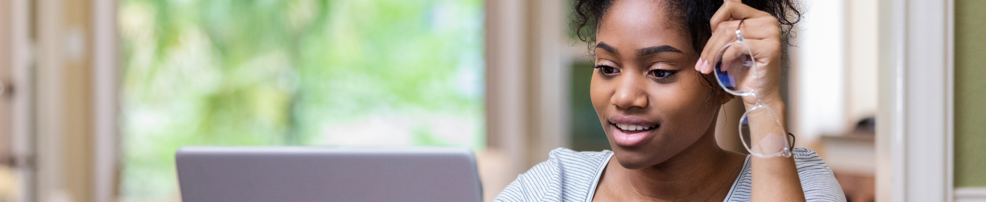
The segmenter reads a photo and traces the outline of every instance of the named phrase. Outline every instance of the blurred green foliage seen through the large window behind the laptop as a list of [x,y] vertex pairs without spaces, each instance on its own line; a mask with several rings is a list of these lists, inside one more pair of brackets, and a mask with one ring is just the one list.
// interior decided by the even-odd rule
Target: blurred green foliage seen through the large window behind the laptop
[[186,145],[482,148],[481,0],[121,0],[120,192]]

